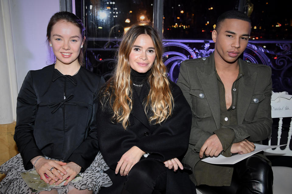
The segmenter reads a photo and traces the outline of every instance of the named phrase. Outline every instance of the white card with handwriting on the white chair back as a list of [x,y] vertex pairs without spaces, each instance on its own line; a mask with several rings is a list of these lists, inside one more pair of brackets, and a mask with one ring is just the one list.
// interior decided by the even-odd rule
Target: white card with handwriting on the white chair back
[[272,92],[272,118],[292,117],[292,95],[288,92]]

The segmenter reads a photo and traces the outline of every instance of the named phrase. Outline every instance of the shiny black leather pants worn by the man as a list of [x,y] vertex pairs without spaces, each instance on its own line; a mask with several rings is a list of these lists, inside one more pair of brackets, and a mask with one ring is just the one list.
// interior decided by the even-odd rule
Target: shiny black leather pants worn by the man
[[234,165],[231,186],[206,186],[218,194],[272,194],[273,171],[260,156],[252,155]]

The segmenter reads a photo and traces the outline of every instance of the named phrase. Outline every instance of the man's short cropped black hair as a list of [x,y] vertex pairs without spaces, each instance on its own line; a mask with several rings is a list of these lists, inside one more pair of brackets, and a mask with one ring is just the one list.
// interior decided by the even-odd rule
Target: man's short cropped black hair
[[247,16],[244,12],[240,12],[237,10],[230,10],[230,11],[224,12],[218,17],[217,23],[216,23],[217,31],[219,30],[220,25],[224,21],[224,19],[240,19],[240,20],[251,23],[249,16]]

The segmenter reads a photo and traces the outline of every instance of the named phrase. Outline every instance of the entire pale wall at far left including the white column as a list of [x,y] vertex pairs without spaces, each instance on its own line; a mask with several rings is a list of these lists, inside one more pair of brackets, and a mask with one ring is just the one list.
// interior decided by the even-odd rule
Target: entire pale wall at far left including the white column
[[59,0],[0,1],[0,124],[16,120],[16,98],[29,70],[49,59],[46,30]]

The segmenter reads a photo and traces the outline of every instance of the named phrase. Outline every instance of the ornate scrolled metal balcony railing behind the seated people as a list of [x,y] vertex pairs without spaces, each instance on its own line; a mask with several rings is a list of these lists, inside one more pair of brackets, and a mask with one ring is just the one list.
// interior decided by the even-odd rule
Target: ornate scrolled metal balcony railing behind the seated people
[[[88,68],[108,79],[115,66],[115,53],[120,39],[88,38]],[[243,59],[252,63],[269,65],[272,68],[274,92],[287,91],[292,94],[292,41],[249,41]],[[207,57],[214,51],[211,40],[163,41],[164,63],[169,69],[169,78],[176,82],[180,63],[186,59]],[[94,47],[94,48],[93,48]]]

